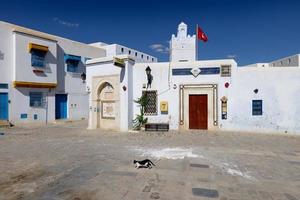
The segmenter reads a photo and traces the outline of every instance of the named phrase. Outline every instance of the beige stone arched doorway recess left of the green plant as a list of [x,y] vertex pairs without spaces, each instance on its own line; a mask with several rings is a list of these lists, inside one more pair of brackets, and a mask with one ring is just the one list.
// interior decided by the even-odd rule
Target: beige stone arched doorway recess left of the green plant
[[115,125],[115,89],[109,82],[102,83],[97,95],[97,128],[113,128]]

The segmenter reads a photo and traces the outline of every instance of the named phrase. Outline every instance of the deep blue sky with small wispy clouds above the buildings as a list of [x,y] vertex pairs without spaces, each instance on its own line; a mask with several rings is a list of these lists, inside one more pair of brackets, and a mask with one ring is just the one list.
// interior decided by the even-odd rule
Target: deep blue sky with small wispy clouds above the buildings
[[[208,36],[199,59],[234,58],[239,66],[300,53],[298,0],[9,0],[0,20],[93,43],[117,43],[168,61],[178,24]],[[2,38],[0,38],[2,39]]]

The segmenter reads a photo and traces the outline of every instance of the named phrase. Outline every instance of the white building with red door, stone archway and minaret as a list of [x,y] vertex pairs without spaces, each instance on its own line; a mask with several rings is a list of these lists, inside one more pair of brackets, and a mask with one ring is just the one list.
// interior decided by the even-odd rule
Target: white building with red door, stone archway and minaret
[[196,41],[185,28],[181,23],[177,37],[172,36],[171,62],[136,63],[130,55],[87,62],[90,129],[131,129],[140,113],[134,100],[146,93],[145,115],[152,126],[300,133],[300,66],[294,61],[299,55],[283,67],[195,60]]

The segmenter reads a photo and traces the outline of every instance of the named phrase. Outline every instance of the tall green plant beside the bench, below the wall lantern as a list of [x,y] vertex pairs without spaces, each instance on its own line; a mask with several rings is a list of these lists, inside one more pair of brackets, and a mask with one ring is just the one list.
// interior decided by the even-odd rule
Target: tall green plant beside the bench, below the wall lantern
[[147,106],[149,100],[146,93],[142,94],[140,98],[134,100],[135,103],[140,106],[140,114],[136,115],[136,118],[133,120],[133,128],[135,130],[140,130],[142,126],[144,126],[148,122],[148,118],[145,118],[145,106]]

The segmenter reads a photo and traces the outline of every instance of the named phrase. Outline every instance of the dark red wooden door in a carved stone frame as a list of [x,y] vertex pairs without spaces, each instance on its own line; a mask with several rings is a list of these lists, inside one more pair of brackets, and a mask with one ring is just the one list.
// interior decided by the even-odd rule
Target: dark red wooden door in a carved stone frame
[[189,129],[207,129],[207,95],[189,95]]

